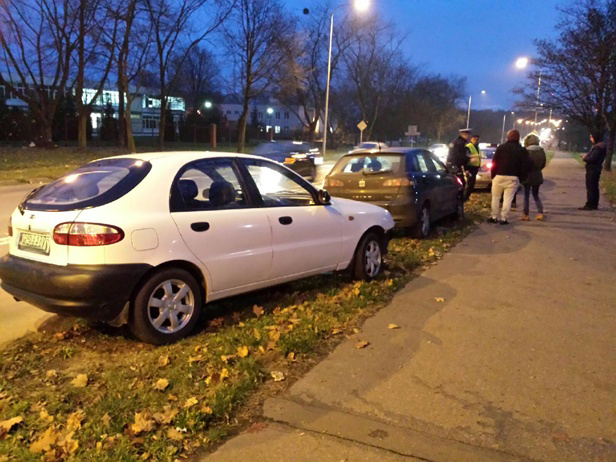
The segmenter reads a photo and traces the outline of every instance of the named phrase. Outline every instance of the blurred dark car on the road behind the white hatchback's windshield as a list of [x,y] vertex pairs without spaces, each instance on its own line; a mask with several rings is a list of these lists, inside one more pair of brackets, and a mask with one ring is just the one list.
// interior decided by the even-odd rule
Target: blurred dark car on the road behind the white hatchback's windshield
[[311,181],[317,177],[316,166],[323,163],[319,148],[305,141],[268,141],[259,144],[252,154],[284,164]]

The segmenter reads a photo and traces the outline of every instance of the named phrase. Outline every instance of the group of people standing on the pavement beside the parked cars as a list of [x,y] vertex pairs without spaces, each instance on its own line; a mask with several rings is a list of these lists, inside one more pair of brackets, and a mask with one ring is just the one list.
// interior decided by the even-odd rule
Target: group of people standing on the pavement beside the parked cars
[[[600,133],[590,135],[593,144],[588,154],[582,159],[586,163],[586,204],[579,210],[597,210],[599,206],[599,178],[607,151]],[[492,207],[489,223],[509,223],[512,203],[520,185],[524,187],[524,212],[522,221],[529,221],[530,196],[532,194],[537,207],[536,219],[543,221],[543,203],[539,196],[539,188],[543,184],[542,170],[547,158],[540,145],[540,139],[535,133],[530,133],[520,143],[520,132],[510,130],[507,141],[496,148],[492,158]],[[464,187],[464,199],[471,196],[477,173],[481,167],[481,151],[479,135],[465,128],[452,143],[447,163],[457,173]]]

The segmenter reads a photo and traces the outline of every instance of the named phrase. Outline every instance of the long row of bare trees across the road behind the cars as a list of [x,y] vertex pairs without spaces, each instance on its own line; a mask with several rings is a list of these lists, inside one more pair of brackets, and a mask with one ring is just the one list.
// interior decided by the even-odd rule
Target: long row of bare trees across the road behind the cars
[[418,124],[440,139],[462,119],[464,80],[412,66],[402,52],[405,37],[392,24],[376,15],[345,15],[345,6],[333,1],[311,3],[302,14],[281,0],[0,2],[0,85],[28,105],[39,146],[52,144],[55,114],[68,89],[79,146],[85,147],[90,114],[111,85],[120,98],[119,143],[130,151],[131,103],[144,88],[156,89],[161,100],[161,148],[169,138],[172,94],[183,95],[194,113],[206,96],[239,100],[238,151],[251,105],[265,96],[295,111],[312,137],[325,108],[329,19],[336,11],[335,134],[355,131],[364,120],[367,137],[397,139]]

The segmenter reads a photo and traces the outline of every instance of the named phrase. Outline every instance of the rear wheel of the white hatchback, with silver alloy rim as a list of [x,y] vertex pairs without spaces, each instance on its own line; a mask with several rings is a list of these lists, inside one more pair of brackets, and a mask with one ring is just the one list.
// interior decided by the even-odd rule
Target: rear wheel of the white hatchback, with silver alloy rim
[[[178,296],[182,292],[182,297]],[[180,268],[152,274],[139,288],[132,303],[130,330],[154,345],[186,337],[201,315],[201,289],[195,278]]]

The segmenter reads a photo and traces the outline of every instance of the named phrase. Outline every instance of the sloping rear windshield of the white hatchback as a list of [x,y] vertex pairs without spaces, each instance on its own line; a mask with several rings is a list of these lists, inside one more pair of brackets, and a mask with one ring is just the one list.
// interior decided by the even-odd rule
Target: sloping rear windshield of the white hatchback
[[127,158],[90,162],[35,190],[21,207],[67,211],[101,206],[132,190],[151,167],[149,162]]

